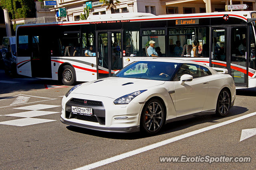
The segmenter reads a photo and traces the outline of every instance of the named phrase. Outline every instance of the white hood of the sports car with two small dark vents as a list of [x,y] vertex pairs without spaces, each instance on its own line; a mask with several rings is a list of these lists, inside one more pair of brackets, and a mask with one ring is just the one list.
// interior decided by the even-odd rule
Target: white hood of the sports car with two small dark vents
[[164,84],[164,81],[136,78],[108,77],[82,84],[73,91],[76,94],[104,96],[113,99],[138,90],[148,90],[152,86]]

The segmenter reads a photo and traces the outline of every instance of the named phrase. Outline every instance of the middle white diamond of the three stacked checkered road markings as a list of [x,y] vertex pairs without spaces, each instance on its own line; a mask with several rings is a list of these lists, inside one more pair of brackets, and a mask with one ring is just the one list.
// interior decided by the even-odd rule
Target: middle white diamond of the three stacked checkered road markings
[[32,111],[24,111],[20,113],[13,113],[5,116],[14,116],[14,117],[37,117],[43,115],[50,115],[54,113],[60,113],[57,111],[41,111],[41,110],[32,110]]

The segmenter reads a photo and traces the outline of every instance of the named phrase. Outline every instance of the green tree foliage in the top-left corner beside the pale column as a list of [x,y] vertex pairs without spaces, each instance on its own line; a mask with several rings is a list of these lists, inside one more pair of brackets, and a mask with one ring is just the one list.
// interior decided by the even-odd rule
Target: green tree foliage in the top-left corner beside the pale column
[[0,0],[2,9],[8,9],[11,20],[36,17],[34,0]]

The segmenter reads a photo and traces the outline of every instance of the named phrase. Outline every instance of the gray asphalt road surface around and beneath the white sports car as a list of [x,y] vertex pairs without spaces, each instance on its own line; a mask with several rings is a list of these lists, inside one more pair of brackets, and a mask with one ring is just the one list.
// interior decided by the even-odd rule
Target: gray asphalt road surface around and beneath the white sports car
[[[0,169],[79,168],[256,112],[256,89],[237,90],[238,96],[228,117],[204,115],[168,123],[155,136],[105,133],[60,122],[61,96],[72,86],[60,88],[63,85],[58,81],[13,78],[4,75],[2,70],[0,77],[8,81],[0,82]],[[242,129],[256,128],[255,121],[253,115],[96,169],[255,169],[256,136],[240,142]],[[182,155],[250,156],[252,161],[209,164],[160,162],[159,159]]]

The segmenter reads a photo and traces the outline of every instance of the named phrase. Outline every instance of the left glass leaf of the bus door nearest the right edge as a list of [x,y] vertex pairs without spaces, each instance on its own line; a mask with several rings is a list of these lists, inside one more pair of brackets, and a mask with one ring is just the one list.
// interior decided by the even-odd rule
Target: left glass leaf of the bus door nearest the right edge
[[212,60],[222,61],[213,63],[213,67],[226,68],[226,29],[218,28],[212,30]]

